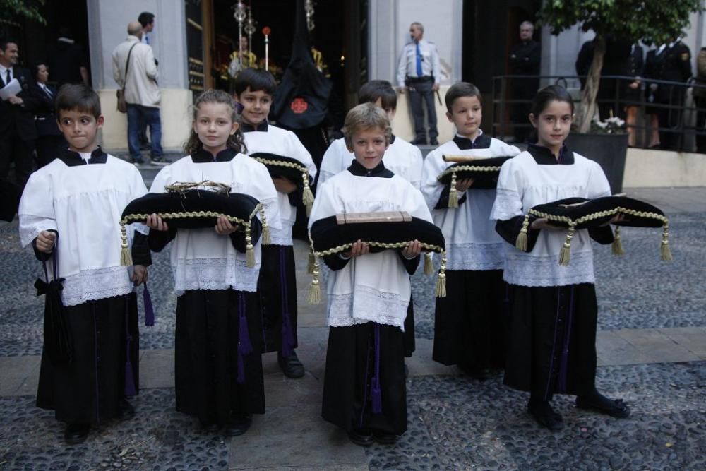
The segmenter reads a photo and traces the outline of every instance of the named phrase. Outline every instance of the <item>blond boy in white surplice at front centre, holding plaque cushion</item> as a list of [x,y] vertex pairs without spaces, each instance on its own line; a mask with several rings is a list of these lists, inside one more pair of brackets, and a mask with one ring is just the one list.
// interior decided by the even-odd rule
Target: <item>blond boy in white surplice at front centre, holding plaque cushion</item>
[[[339,213],[395,210],[431,222],[419,190],[383,165],[391,135],[383,109],[354,107],[344,133],[355,160],[321,186],[310,227]],[[375,254],[358,241],[348,253],[324,257],[333,271],[322,415],[361,446],[394,443],[407,430],[403,330],[420,252],[418,241]]]

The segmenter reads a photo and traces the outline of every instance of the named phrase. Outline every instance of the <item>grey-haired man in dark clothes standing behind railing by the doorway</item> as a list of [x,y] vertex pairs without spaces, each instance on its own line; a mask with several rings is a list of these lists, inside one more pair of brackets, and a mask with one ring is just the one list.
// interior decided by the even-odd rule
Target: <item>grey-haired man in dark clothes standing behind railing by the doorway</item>
[[[520,43],[510,49],[510,73],[514,76],[539,76],[539,62],[542,60],[542,48],[539,42],[532,40],[534,25],[530,21],[520,24]],[[525,142],[530,131],[531,100],[539,88],[539,78],[513,78],[510,90],[515,100],[530,100],[526,103],[515,103],[513,109],[513,124],[515,124],[515,140]],[[524,125],[524,126],[518,126]]]

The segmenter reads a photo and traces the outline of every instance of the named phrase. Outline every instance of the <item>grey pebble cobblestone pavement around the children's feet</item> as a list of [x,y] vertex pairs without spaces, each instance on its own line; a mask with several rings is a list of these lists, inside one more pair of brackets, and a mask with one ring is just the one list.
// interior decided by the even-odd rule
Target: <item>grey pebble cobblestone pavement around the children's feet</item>
[[[623,230],[623,258],[596,248],[600,329],[706,326],[706,213],[670,218],[672,263],[659,260],[658,229]],[[0,259],[0,357],[40,354],[43,299],[32,287],[40,266],[20,249],[16,222],[0,225]],[[433,338],[432,283],[433,277],[414,277],[418,338]],[[155,255],[150,292],[157,323],[141,333],[144,350],[174,345],[171,284],[167,254]],[[499,374],[484,383],[462,375],[410,378],[407,433],[395,446],[367,448],[364,461],[371,470],[706,469],[706,362],[602,366],[597,383],[625,399],[632,417],[578,410],[573,398],[560,396],[554,402],[566,427],[550,432],[534,424],[527,396],[503,387]],[[319,385],[306,404],[315,416]],[[34,400],[0,397],[0,471],[224,470],[237,467],[233,449],[244,443],[199,431],[174,411],[172,388],[141,390],[134,419],[102,424],[80,446],[65,446],[61,424]],[[268,415],[277,407],[268,406]]]

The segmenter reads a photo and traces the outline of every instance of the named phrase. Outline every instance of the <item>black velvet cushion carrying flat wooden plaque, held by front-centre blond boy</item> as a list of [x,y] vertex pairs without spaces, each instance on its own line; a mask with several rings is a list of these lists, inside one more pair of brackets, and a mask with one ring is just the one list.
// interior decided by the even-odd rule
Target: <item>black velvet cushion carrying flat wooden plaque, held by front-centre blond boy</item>
[[[385,249],[403,249],[409,242],[417,239],[423,251],[441,252],[445,244],[441,229],[417,217],[407,222],[357,222],[339,225],[336,217],[325,217],[311,226],[311,240],[317,254],[328,252],[335,254],[350,249],[349,244],[357,240],[371,245],[372,252]],[[394,245],[394,246],[382,246]],[[340,250],[333,250],[341,247]]]

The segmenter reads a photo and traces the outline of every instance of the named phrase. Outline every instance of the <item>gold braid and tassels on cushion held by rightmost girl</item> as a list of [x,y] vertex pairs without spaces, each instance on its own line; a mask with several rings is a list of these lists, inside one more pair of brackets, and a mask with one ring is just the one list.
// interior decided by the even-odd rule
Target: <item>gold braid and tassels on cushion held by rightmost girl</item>
[[[626,215],[637,216],[637,217],[645,217],[647,219],[655,219],[655,220],[662,222],[662,245],[660,246],[661,258],[664,261],[670,261],[672,259],[671,250],[669,249],[669,219],[664,215],[661,215],[658,213],[652,213],[651,211],[638,211],[638,210],[622,208],[621,206],[618,206],[618,208],[613,208],[613,209],[604,210],[604,211],[598,211],[597,213],[587,214],[585,216],[578,217],[577,219],[573,220],[567,216],[557,216],[557,215],[552,215],[552,214],[548,214],[548,213],[543,213],[542,211],[530,209],[530,211],[525,216],[525,225],[523,226],[523,229],[526,229],[527,221],[528,221],[530,215],[536,216],[536,217],[544,217],[544,218],[546,218],[546,220],[549,220],[549,221],[566,222],[569,225],[569,227],[568,227],[568,232],[566,234],[566,241],[564,241],[564,244],[561,247],[561,251],[559,252],[559,265],[568,266],[569,261],[570,261],[571,239],[573,239],[573,234],[576,230],[576,226],[578,226],[584,222],[588,222],[588,221],[592,221],[592,220],[596,220],[596,219],[601,219],[602,217],[606,217],[606,216],[614,216],[614,215],[618,215],[618,214],[626,214]],[[620,237],[620,232],[618,232],[617,230],[616,230],[615,237],[618,237],[618,238]],[[519,237],[518,237],[518,239],[519,239]],[[518,245],[518,248],[520,248],[519,245]],[[618,242],[618,244],[614,245],[613,254],[614,255],[622,255],[623,254],[622,244],[620,244]]]

